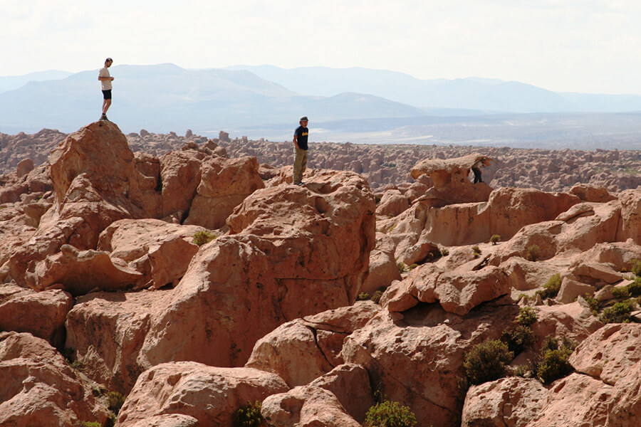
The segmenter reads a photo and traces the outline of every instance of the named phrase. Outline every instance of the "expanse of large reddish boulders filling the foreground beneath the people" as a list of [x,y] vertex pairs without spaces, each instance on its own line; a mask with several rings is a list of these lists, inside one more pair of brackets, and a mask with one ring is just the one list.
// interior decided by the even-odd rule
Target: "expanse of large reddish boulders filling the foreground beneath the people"
[[92,123],[0,188],[0,425],[637,425],[641,189],[493,189],[474,153],[295,186],[150,135]]

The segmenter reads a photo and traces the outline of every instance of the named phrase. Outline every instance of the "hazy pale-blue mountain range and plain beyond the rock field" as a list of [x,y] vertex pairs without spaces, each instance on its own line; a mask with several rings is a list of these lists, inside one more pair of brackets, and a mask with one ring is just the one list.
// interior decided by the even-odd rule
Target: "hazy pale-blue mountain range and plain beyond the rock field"
[[[494,126],[500,117],[501,126],[508,126],[512,115],[641,112],[639,95],[554,93],[483,78],[420,80],[365,68],[237,65],[189,70],[172,64],[115,65],[111,74],[115,80],[108,116],[124,132],[191,129],[216,135],[227,130],[288,137],[298,117],[308,115],[318,137],[325,132],[330,138],[339,129],[408,128],[408,135],[420,137],[431,125],[449,129],[469,120],[479,127]],[[0,77],[0,132],[37,132],[43,127],[71,132],[97,120],[101,103],[98,70]],[[522,117],[512,122],[519,120]]]

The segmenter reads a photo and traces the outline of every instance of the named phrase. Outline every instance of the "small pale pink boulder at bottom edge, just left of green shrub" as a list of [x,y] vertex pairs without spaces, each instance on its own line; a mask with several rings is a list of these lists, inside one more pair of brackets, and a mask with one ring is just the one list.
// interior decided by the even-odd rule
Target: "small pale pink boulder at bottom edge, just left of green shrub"
[[336,396],[320,386],[300,386],[263,401],[261,415],[278,427],[360,427]]

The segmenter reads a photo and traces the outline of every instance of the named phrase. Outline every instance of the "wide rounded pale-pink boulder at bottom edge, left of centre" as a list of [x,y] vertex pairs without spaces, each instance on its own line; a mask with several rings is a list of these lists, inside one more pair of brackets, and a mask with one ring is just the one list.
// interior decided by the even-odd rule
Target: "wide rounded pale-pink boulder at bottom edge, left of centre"
[[248,402],[286,390],[278,376],[257,369],[160,364],[140,374],[120,408],[116,426],[140,425],[147,418],[167,414],[196,418],[199,426],[231,426],[234,413]]

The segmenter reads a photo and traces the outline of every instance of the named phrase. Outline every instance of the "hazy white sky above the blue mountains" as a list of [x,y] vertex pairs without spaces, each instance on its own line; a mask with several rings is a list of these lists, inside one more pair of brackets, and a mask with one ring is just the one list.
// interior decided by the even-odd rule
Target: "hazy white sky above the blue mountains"
[[0,0],[0,75],[359,66],[641,94],[638,0]]

